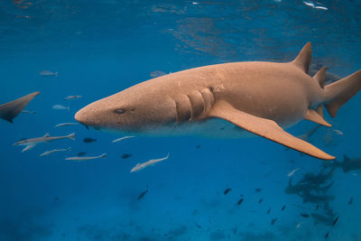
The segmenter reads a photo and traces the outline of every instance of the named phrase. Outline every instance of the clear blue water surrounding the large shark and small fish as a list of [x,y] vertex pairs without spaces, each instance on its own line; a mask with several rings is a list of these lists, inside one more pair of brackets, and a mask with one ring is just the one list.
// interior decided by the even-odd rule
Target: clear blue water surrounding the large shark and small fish
[[[315,224],[300,213],[323,210],[284,189],[290,171],[301,168],[292,177],[296,183],[307,172],[319,173],[323,161],[263,138],[136,137],[113,144],[121,136],[82,125],[54,128],[75,122],[79,108],[150,79],[154,70],[292,60],[306,42],[312,42],[312,60],[329,72],[345,77],[361,69],[359,1],[322,2],[328,10],[301,0],[197,3],[0,2],[0,103],[41,91],[25,107],[36,114],[0,123],[0,240],[324,240],[328,232],[329,240],[361,240],[357,171],[337,169],[331,177],[327,194],[335,196],[329,206],[338,223]],[[59,76],[41,76],[42,70]],[[64,101],[70,95],[83,97]],[[57,104],[70,110],[53,109]],[[359,94],[336,118],[326,116],[343,135],[321,127],[312,144],[339,161],[343,154],[360,157],[360,104]],[[303,134],[313,126],[302,121],[290,132]],[[25,153],[13,145],[73,132],[75,141],[38,144]],[[97,141],[84,143],[86,137]],[[72,151],[39,157],[67,147]],[[64,160],[79,152],[107,155]],[[122,159],[125,153],[132,156]],[[136,163],[167,153],[169,160],[130,173]],[[347,204],[351,197],[353,204]]]

